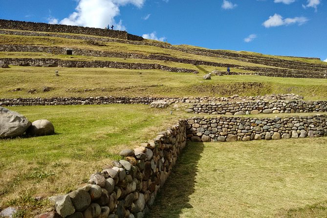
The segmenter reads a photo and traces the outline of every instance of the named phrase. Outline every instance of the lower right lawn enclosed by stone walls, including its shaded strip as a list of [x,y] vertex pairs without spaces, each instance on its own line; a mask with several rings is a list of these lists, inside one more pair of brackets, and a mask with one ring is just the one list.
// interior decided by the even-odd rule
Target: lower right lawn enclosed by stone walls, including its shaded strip
[[192,143],[152,218],[327,217],[326,164],[327,138]]

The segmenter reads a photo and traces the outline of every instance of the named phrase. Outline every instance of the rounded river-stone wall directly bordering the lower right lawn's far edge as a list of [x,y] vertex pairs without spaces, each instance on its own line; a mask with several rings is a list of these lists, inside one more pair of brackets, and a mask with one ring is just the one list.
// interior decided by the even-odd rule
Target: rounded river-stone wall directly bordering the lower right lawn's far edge
[[327,115],[288,118],[193,117],[187,138],[194,142],[232,142],[327,136]]

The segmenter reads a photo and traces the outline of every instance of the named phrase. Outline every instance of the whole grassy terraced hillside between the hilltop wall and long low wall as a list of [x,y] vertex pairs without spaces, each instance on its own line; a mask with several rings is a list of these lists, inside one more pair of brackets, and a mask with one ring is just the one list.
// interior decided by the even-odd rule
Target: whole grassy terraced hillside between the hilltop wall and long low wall
[[[0,29],[0,36],[0,60],[12,65],[0,69],[5,72],[0,79],[1,84],[5,84],[0,87],[2,98],[218,97],[291,92],[307,99],[327,98],[326,80],[321,80],[326,78],[327,64],[316,58],[71,33]],[[72,55],[66,55],[67,50],[71,50]],[[203,81],[202,76],[212,70],[226,74],[228,66],[231,75]],[[78,71],[74,67],[78,67]],[[55,70],[59,70],[60,77],[53,77]],[[13,77],[21,82],[12,80]],[[300,78],[316,79],[309,82]],[[121,80],[125,82],[120,83]],[[44,87],[50,90],[44,92]]]

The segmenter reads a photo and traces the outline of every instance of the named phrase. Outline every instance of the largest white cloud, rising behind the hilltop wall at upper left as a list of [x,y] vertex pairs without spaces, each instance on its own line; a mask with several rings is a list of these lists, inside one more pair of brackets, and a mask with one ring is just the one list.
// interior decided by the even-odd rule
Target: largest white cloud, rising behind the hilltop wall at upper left
[[[114,25],[115,29],[125,30],[122,21],[115,22],[114,18],[119,15],[119,7],[127,4],[133,4],[136,7],[142,7],[145,0],[77,0],[78,5],[75,12],[69,17],[61,20],[60,24],[78,25],[88,27],[104,28]],[[58,21],[55,18],[49,19],[49,22]]]

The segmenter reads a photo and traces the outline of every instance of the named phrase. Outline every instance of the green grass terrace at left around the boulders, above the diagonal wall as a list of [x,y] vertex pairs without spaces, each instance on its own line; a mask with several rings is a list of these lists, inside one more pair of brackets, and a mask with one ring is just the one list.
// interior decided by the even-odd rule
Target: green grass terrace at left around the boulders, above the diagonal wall
[[[0,208],[42,204],[32,195],[66,193],[102,170],[119,152],[174,124],[168,110],[146,105],[10,108],[30,121],[48,119],[55,135],[0,140]],[[51,194],[50,194],[51,195]],[[43,202],[44,203],[44,202]]]

